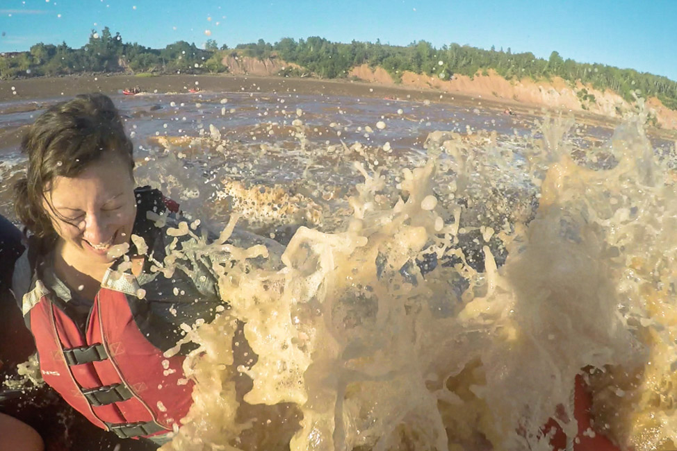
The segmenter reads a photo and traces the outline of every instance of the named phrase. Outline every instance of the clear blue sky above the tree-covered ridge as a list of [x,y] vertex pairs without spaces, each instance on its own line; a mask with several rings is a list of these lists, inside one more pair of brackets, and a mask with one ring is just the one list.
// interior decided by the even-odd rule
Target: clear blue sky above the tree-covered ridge
[[124,42],[152,47],[318,35],[494,45],[544,58],[557,50],[563,58],[677,80],[677,0],[0,0],[0,51],[41,41],[80,47],[103,26],[120,31]]

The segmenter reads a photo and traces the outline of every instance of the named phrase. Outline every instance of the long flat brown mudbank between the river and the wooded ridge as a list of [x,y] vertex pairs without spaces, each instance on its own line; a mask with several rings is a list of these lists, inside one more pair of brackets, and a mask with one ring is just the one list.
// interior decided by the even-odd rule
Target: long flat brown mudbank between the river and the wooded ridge
[[[318,78],[284,78],[279,76],[251,75],[158,75],[137,77],[122,74],[95,74],[63,77],[35,77],[12,80],[0,84],[0,113],[26,111],[23,106],[11,105],[17,101],[35,101],[35,109],[42,108],[60,99],[70,99],[83,92],[101,92],[108,95],[120,95],[125,88],[138,86],[144,92],[165,94],[178,92],[188,94],[188,89],[199,83],[203,92],[272,92],[277,94],[334,95],[352,97],[387,98],[393,101],[430,101],[464,106],[482,106],[492,110],[510,109],[516,114],[542,117],[544,112],[573,114],[582,124],[614,128],[621,121],[614,117],[592,112],[563,110],[546,105],[523,103],[508,99],[491,99],[477,94],[464,92],[446,92],[434,88],[421,88],[406,85],[383,85],[366,81]],[[13,91],[12,88],[15,88]],[[16,94],[13,94],[16,92]],[[195,94],[193,94],[195,95]],[[661,128],[647,128],[651,135],[667,139],[677,139],[677,131]],[[3,138],[12,138],[4,133]]]

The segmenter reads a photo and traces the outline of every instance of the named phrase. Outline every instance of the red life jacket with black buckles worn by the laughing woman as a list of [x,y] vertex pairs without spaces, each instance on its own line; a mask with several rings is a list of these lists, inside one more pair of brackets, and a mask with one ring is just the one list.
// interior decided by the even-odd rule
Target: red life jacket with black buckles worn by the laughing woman
[[143,336],[125,293],[99,290],[84,336],[42,282],[28,296],[44,381],[92,423],[124,438],[151,436],[188,414],[193,382],[183,379],[184,357],[163,357]]

